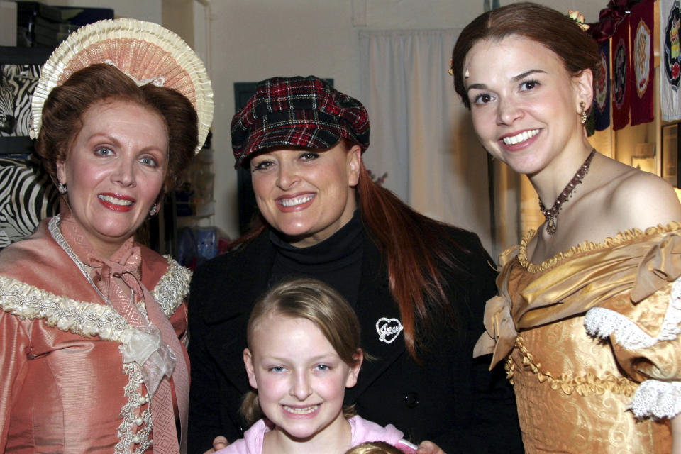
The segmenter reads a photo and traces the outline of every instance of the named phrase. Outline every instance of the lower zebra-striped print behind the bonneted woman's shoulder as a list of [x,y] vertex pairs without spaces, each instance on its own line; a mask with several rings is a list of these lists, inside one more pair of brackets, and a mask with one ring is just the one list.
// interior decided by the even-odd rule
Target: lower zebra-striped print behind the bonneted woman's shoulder
[[31,235],[59,211],[59,192],[33,158],[0,157],[0,248]]

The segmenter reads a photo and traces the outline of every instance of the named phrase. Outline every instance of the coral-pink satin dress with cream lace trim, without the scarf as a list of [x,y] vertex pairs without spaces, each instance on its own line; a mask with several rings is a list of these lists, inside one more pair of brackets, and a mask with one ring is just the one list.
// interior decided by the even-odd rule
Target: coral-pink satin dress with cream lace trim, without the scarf
[[[63,226],[70,214],[62,216]],[[82,250],[74,244],[78,238],[62,231],[74,250]],[[138,246],[131,239],[125,247]],[[130,304],[134,299],[142,314],[157,304],[176,340],[183,338],[189,271],[148,248],[135,251],[148,294],[143,299],[129,292]],[[87,271],[94,279],[111,279]],[[121,354],[135,326],[102,300],[57,244],[47,220],[0,253],[0,308],[0,452],[177,452],[177,436],[175,446],[154,443],[153,421],[165,417],[172,432],[183,411],[179,419],[186,421],[188,377],[180,379],[180,390],[175,374],[180,362],[188,373],[184,345],[172,377],[163,378],[170,383],[164,397],[170,414],[154,415],[161,407],[152,408],[142,368],[124,363]]]

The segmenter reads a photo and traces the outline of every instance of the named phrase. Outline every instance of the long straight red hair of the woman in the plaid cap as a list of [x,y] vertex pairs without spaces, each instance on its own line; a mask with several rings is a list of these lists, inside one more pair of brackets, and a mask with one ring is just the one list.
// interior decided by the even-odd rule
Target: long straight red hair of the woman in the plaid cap
[[[451,240],[450,226],[419,214],[373,182],[363,162],[357,192],[362,223],[387,265],[390,293],[402,316],[406,349],[418,360],[418,351],[427,350],[427,345],[417,331],[432,332],[443,322],[445,326],[455,326],[458,320],[455,305],[445,292],[450,283],[444,282],[441,270],[463,274],[450,256],[453,248],[463,248]],[[230,249],[253,240],[265,225],[258,214],[248,233],[234,241]]]

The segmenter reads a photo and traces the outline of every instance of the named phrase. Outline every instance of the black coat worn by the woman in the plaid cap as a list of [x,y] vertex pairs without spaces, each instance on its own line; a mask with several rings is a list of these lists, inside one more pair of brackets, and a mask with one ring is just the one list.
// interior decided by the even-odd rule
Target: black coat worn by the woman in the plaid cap
[[[448,454],[521,453],[515,402],[504,371],[488,372],[487,356],[472,359],[472,346],[484,329],[485,301],[495,293],[496,272],[475,234],[454,228],[451,234],[470,250],[452,252],[470,279],[459,282],[456,277],[447,289],[463,328],[457,334],[443,329],[433,336],[436,341],[419,357],[422,365],[406,352],[404,333],[391,343],[379,340],[377,321],[400,316],[380,252],[365,235],[356,310],[362,348],[376,359],[362,364],[357,385],[346,389],[345,403],[354,403],[365,419],[392,423],[406,438],[434,441]],[[274,258],[275,248],[265,232],[194,272],[189,297],[189,453],[203,453],[218,435],[230,441],[241,438],[247,428],[238,413],[250,389],[243,365],[246,323],[255,300],[267,290]]]

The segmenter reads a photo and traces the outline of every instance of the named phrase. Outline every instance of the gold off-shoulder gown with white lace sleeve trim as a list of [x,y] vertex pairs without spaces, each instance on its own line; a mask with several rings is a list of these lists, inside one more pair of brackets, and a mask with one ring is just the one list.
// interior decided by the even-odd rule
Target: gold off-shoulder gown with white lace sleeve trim
[[668,416],[681,411],[681,223],[540,265],[526,258],[534,234],[502,254],[476,346],[506,358],[526,452],[670,453]]

